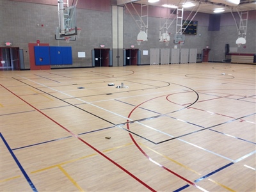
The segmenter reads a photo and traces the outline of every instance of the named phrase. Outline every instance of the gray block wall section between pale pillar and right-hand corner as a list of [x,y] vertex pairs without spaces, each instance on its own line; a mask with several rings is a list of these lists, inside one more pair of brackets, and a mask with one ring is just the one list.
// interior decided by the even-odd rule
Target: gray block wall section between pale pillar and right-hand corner
[[[150,63],[150,49],[173,49],[175,45],[182,49],[197,49],[198,53],[202,52],[206,46],[211,47],[211,31],[208,31],[208,26],[198,26],[197,35],[186,35],[185,42],[182,46],[174,44],[174,35],[176,33],[176,20],[172,23],[168,29],[170,33],[170,43],[166,46],[163,42],[159,42],[159,18],[148,17],[148,41],[141,42],[141,45],[137,45],[136,39],[140,32],[140,28],[136,25],[131,15],[126,14],[124,17],[124,47],[129,48],[131,44],[135,45],[134,48],[148,51],[148,56],[141,55],[141,65],[147,65]],[[172,22],[172,20],[170,20]],[[200,23],[200,22],[199,22]],[[199,35],[201,34],[201,36]],[[170,54],[171,55],[171,54]],[[159,58],[160,63],[161,58]]]

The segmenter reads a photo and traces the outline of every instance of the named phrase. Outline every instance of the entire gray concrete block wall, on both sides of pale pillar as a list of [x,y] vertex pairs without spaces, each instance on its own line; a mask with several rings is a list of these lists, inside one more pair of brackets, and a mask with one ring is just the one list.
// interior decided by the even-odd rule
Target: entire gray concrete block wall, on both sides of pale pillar
[[[77,8],[77,26],[82,31],[80,38],[76,41],[70,41],[69,44],[54,38],[55,28],[58,26],[57,6],[4,1],[4,3],[1,3],[0,10],[0,44],[4,46],[4,42],[12,42],[13,47],[23,49],[26,69],[29,69],[28,43],[36,43],[36,40],[40,40],[41,43],[49,43],[52,46],[71,46],[74,64],[65,67],[92,67],[93,48],[104,44],[106,48],[112,49],[111,7],[109,7],[109,12]],[[182,48],[196,48],[197,52],[201,53],[202,49],[209,46],[211,48],[209,60],[222,61],[225,44],[230,44],[230,47],[236,46],[235,42],[238,38],[236,24],[221,26],[220,31],[208,31],[205,18],[205,14],[198,13],[196,15],[194,20],[198,20],[198,34],[186,35]],[[168,29],[168,32],[171,33],[171,42],[166,46],[159,42],[159,18],[148,17],[148,42],[142,42],[139,46],[136,38],[140,28],[138,28],[130,14],[124,13],[124,49],[135,45],[134,48],[141,50],[141,64],[149,64],[150,49],[172,49],[174,45],[177,45],[172,42],[175,28],[175,22],[173,22]],[[239,47],[239,52],[256,52],[255,29],[256,19],[248,20],[246,48]],[[199,36],[199,33],[201,36]],[[148,56],[142,55],[143,50],[148,51]],[[78,58],[77,52],[80,51],[86,52],[86,58]]]

